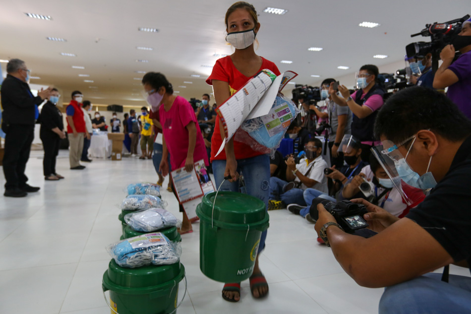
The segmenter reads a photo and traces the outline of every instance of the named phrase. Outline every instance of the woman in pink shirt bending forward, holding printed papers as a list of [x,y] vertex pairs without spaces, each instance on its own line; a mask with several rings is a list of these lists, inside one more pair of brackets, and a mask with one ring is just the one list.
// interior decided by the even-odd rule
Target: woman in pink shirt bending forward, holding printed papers
[[[169,153],[172,169],[175,170],[184,167],[187,172],[193,171],[194,163],[201,159],[209,166],[203,135],[191,105],[183,97],[174,95],[172,84],[162,73],[146,73],[142,84],[152,110],[159,111],[164,135],[164,149],[159,167],[162,176],[165,177],[169,173]],[[176,193],[175,187],[173,190]],[[178,232],[193,232],[191,222],[181,204],[180,212],[183,213],[183,224]]]

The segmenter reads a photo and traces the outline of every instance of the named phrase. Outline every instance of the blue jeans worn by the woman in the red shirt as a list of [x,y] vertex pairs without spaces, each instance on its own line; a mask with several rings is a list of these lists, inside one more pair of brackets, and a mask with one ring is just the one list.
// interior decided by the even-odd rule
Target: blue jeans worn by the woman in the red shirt
[[[213,173],[216,188],[219,188],[224,180],[224,172],[226,171],[226,160],[213,161]],[[268,207],[268,180],[270,179],[270,157],[268,155],[260,155],[247,159],[237,160],[237,172],[243,174],[245,187],[249,195],[261,199]],[[225,181],[221,186],[221,191],[239,191],[238,182]],[[258,252],[265,249],[265,239],[267,238],[267,230],[262,232]]]

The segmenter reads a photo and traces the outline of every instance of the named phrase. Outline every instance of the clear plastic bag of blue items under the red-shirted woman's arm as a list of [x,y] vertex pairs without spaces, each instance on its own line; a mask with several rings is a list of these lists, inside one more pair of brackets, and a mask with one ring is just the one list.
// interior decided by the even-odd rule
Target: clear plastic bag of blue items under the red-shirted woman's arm
[[235,140],[250,145],[256,151],[274,154],[299,112],[290,99],[278,94],[270,113],[244,121],[235,133]]

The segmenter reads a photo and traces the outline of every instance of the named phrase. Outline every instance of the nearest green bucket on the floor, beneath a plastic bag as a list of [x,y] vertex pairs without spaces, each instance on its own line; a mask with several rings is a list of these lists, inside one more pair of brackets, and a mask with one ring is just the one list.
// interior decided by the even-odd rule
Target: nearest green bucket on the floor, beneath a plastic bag
[[178,284],[184,276],[179,262],[130,269],[112,259],[103,274],[103,293],[110,290],[112,314],[176,313]]

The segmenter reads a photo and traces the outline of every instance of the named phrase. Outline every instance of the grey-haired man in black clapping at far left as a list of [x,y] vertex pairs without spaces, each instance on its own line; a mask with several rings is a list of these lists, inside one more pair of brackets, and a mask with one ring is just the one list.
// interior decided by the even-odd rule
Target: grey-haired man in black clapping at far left
[[1,85],[2,125],[5,135],[3,174],[5,196],[24,197],[27,192],[36,192],[26,182],[24,174],[34,139],[34,124],[39,117],[38,105],[51,95],[51,88],[38,91],[34,97],[29,89],[29,73],[24,61],[11,59],[6,65],[5,80]]

